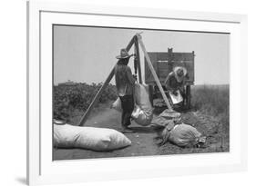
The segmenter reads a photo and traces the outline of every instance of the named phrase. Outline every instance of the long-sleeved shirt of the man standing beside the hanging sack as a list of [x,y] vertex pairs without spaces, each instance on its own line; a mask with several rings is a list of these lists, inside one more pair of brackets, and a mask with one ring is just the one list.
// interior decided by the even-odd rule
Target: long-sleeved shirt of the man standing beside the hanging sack
[[119,96],[133,94],[135,79],[128,65],[117,64],[115,67],[115,78]]

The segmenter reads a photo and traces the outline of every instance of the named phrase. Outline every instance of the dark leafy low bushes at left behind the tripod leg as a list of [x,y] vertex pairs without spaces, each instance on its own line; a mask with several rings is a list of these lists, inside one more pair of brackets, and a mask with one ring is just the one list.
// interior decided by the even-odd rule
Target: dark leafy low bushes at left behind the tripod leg
[[[76,111],[85,112],[101,86],[102,83],[73,83],[72,85],[62,83],[55,85],[53,87],[54,118],[68,121]],[[116,86],[108,84],[98,103],[108,103],[115,99],[117,99]]]

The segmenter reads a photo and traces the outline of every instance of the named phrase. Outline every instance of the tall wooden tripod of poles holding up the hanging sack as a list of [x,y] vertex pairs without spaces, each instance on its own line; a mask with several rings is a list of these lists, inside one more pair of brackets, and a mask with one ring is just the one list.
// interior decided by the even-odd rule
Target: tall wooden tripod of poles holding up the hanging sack
[[[135,53],[136,53],[136,58],[137,58],[136,59],[137,64],[135,66],[136,66],[136,68],[138,68],[138,82],[142,83],[141,66],[140,66],[140,58],[139,58],[139,48],[138,48],[138,44],[139,44],[141,46],[141,49],[142,49],[146,59],[147,59],[149,69],[150,69],[151,73],[153,74],[154,79],[155,79],[157,85],[159,86],[159,91],[162,94],[163,99],[164,99],[165,103],[167,104],[169,110],[172,110],[172,108],[171,108],[171,106],[169,104],[169,100],[168,100],[166,94],[164,93],[164,90],[162,88],[161,83],[159,82],[159,77],[158,77],[157,73],[155,72],[155,69],[154,69],[154,67],[153,67],[153,65],[152,65],[152,63],[150,61],[150,58],[148,56],[147,50],[145,48],[145,45],[142,42],[142,38],[141,38],[140,34],[136,34],[136,35],[134,35],[132,37],[132,39],[130,40],[130,42],[128,43],[128,45],[126,47],[127,51],[130,50],[130,48],[132,47],[133,44],[135,46]],[[136,71],[137,71],[137,69],[136,69]],[[103,85],[100,87],[100,89],[97,92],[96,96],[94,97],[92,103],[90,103],[89,107],[87,108],[86,113],[84,113],[84,115],[82,116],[82,118],[81,118],[81,120],[79,121],[79,124],[78,124],[79,126],[82,126],[82,125],[85,124],[85,122],[87,122],[87,118],[88,118],[89,113],[92,111],[92,109],[94,108],[95,104],[98,102],[98,99],[99,99],[100,95],[102,94],[104,89],[107,87],[107,85],[111,81],[111,79],[113,78],[114,73],[115,73],[115,66],[112,68],[111,72],[108,74],[108,78],[103,83]]]

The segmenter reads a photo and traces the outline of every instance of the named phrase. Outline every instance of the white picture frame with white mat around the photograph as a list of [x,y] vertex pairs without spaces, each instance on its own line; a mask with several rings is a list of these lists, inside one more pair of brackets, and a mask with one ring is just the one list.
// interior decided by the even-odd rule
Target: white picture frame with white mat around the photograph
[[[148,20],[148,23],[145,20]],[[51,86],[48,82],[52,78],[52,75],[48,75],[52,73],[51,47],[48,48],[52,36],[50,28],[52,24],[83,24],[85,21],[97,25],[118,24],[130,25],[130,27],[136,27],[144,22],[146,27],[158,24],[162,28],[176,26],[175,28],[179,30],[229,32],[231,35],[230,152],[51,161],[52,146],[47,146],[51,142],[52,125],[47,122],[47,118],[51,118],[51,115],[44,113],[49,109],[47,103],[52,102],[51,88],[48,88]],[[27,183],[29,185],[245,171],[247,169],[247,99],[244,97],[247,97],[246,15],[37,1],[27,3]],[[131,166],[132,164],[138,166]],[[67,173],[70,172],[68,170],[72,170],[72,173]]]

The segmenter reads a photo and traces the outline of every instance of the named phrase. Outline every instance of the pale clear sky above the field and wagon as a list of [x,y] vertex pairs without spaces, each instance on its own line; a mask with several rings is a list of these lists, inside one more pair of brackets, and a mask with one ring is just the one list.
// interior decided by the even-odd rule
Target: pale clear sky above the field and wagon
[[[148,52],[195,52],[195,84],[230,83],[230,35],[87,26],[54,26],[54,84],[105,82],[121,48],[143,32]],[[130,54],[134,51],[130,50]],[[140,51],[144,79],[144,54]],[[133,71],[133,60],[129,66]],[[114,78],[111,83],[114,83]]]

